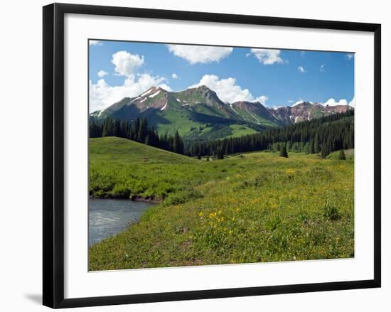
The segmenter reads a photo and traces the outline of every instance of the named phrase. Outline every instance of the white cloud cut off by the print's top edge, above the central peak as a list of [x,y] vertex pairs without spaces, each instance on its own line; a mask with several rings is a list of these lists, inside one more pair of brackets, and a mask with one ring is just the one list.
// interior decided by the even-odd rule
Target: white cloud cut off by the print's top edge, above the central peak
[[168,50],[188,63],[219,62],[232,53],[233,48],[212,47],[207,45],[167,45]]

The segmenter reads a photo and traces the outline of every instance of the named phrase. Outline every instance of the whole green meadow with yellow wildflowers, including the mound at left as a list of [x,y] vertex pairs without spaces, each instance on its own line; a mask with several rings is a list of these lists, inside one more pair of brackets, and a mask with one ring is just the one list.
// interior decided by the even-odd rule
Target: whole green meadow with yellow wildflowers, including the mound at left
[[161,200],[93,245],[90,269],[353,257],[353,165],[271,152],[198,161],[126,139],[90,139],[92,195]]

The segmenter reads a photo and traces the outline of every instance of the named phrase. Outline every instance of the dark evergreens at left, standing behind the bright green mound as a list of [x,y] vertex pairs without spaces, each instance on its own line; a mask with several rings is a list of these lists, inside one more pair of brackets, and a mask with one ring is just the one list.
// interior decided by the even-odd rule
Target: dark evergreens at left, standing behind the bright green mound
[[103,122],[90,121],[90,138],[117,136],[131,139],[143,144],[183,154],[183,139],[178,131],[173,135],[159,135],[154,127],[149,127],[146,118],[136,118],[134,122],[117,120],[107,117]]

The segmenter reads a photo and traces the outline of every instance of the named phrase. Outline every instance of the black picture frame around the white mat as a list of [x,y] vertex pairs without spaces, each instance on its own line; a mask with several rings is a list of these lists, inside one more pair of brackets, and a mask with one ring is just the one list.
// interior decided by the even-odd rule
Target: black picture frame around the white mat
[[[374,33],[374,279],[316,284],[260,286],[237,289],[180,291],[159,294],[129,294],[91,298],[64,298],[64,15],[93,14],[162,18],[181,21],[208,21],[264,26],[289,26]],[[43,7],[43,305],[51,308],[103,306],[232,296],[303,293],[366,289],[381,285],[381,25],[344,21],[318,21],[302,18],[277,18],[114,6],[50,4]]]

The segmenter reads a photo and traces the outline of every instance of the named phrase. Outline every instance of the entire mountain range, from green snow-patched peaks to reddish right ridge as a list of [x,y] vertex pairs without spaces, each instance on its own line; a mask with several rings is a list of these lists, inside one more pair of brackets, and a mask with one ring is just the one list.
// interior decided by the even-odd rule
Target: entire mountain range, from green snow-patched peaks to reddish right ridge
[[291,107],[274,109],[259,102],[227,103],[216,92],[202,85],[180,92],[151,87],[137,97],[125,97],[107,109],[92,112],[90,119],[110,117],[132,121],[146,117],[159,133],[172,134],[178,130],[187,139],[218,139],[296,124],[348,109],[353,107],[299,102]]

